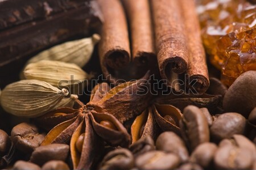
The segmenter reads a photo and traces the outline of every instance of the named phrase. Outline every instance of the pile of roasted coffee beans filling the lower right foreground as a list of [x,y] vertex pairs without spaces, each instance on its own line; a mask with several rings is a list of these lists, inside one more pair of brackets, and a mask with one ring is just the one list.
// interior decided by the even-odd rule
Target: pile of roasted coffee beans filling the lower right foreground
[[256,169],[255,125],[256,107],[246,120],[238,113],[212,116],[206,108],[187,106],[181,134],[163,132],[156,142],[146,136],[129,149],[110,151],[98,169]]

